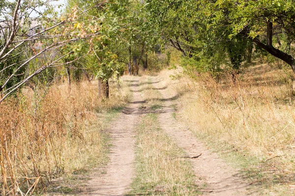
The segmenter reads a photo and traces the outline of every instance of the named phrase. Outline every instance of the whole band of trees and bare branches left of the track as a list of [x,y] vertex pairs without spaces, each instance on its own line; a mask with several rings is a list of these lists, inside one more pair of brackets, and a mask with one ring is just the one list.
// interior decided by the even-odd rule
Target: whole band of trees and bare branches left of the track
[[61,14],[50,2],[0,3],[1,101],[20,87],[50,85],[66,75],[69,84],[98,79],[108,97],[113,76],[148,68],[158,34],[144,1],[68,0]]

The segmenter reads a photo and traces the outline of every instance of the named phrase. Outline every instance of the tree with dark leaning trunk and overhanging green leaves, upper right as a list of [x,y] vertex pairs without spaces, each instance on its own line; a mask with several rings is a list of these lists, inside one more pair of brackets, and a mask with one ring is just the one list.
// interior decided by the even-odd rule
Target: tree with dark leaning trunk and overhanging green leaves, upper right
[[289,64],[295,72],[295,59],[290,54],[290,46],[295,41],[294,0],[201,2],[209,3],[204,11],[213,25],[227,25],[231,31],[229,38],[236,35],[250,38],[258,47]]

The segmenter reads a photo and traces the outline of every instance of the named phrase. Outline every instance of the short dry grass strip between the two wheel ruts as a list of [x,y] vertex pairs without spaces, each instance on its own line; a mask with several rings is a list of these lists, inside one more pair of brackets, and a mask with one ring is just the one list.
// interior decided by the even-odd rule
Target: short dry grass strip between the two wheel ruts
[[197,195],[190,162],[172,159],[184,152],[159,128],[156,114],[138,125],[136,146],[137,174],[130,195]]

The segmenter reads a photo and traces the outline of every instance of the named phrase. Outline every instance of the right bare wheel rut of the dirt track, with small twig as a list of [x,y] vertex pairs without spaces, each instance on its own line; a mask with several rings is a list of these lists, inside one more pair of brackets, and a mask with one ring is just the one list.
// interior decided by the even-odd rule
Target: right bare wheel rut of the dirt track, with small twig
[[151,77],[154,87],[162,95],[163,108],[166,112],[159,114],[161,128],[171,136],[179,147],[182,147],[188,156],[202,155],[196,159],[190,159],[196,176],[200,177],[197,184],[207,186],[201,190],[209,196],[245,196],[247,184],[236,176],[237,172],[224,163],[216,153],[211,153],[197,141],[192,133],[185,128],[184,123],[178,122],[173,116],[176,96],[157,77]]

